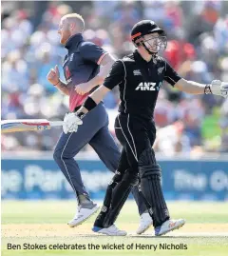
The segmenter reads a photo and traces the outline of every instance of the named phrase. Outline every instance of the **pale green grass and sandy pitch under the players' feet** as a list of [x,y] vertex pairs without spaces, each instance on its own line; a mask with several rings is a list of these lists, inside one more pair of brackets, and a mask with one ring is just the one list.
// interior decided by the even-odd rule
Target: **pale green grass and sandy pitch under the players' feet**
[[[228,204],[168,203],[173,218],[186,219],[186,225],[163,237],[154,237],[151,227],[142,236],[135,230],[139,215],[134,202],[127,202],[117,226],[127,230],[126,237],[94,234],[91,226],[95,216],[84,225],[70,228],[66,222],[74,215],[73,201],[3,201],[2,255],[193,255],[228,254]],[[9,249],[8,246],[18,246]],[[24,249],[24,244],[46,249]],[[51,249],[53,245],[68,245],[68,249]],[[97,246],[88,249],[89,245]],[[104,249],[107,245],[119,249]],[[162,247],[163,245],[166,248]],[[183,249],[186,246],[186,249]],[[76,248],[77,247],[77,248]]]

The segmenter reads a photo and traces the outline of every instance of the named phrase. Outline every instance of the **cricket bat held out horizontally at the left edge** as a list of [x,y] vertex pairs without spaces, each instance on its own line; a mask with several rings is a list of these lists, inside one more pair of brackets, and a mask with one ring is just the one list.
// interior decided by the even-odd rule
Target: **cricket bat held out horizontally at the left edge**
[[2,133],[26,130],[45,130],[63,126],[64,121],[48,121],[47,119],[17,119],[1,121]]

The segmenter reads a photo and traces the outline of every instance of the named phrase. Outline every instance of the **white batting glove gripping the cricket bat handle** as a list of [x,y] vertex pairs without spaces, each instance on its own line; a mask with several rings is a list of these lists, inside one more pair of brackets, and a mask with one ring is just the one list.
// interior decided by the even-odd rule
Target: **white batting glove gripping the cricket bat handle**
[[76,132],[78,130],[78,126],[82,124],[83,121],[75,113],[66,113],[63,130],[66,134],[68,132]]

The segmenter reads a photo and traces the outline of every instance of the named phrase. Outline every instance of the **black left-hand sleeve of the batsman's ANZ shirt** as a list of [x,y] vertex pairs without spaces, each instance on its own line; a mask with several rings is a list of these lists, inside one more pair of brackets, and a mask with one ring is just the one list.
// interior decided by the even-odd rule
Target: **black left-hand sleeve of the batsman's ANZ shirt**
[[118,60],[113,65],[109,71],[109,74],[104,79],[104,87],[107,89],[114,89],[114,87],[118,86],[124,79],[123,72],[123,63]]

